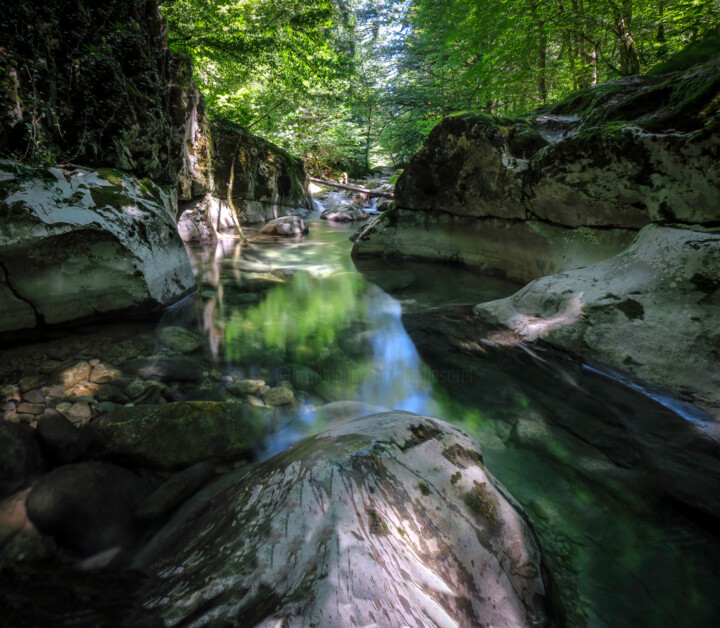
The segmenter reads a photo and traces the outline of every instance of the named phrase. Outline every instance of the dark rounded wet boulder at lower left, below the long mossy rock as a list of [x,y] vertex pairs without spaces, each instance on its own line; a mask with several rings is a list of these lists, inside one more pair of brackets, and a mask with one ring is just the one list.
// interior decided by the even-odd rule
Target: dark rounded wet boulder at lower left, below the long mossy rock
[[26,507],[40,532],[62,547],[91,556],[133,544],[133,513],[146,492],[126,469],[82,462],[59,467],[38,480]]

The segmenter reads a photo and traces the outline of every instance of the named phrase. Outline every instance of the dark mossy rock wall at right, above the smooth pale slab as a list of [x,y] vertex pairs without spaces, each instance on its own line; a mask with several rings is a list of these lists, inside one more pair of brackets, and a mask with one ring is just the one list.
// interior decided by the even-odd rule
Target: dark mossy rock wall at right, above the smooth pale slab
[[529,281],[624,249],[653,222],[720,219],[720,61],[573,94],[528,117],[450,117],[357,256],[462,261]]

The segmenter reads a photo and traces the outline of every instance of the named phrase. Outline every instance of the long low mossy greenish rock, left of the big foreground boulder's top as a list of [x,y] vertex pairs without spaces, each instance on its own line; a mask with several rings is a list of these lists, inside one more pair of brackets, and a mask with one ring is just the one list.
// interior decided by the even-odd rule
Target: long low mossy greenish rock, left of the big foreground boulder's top
[[247,457],[264,414],[237,403],[180,401],[119,408],[90,424],[99,450],[132,464],[177,469]]

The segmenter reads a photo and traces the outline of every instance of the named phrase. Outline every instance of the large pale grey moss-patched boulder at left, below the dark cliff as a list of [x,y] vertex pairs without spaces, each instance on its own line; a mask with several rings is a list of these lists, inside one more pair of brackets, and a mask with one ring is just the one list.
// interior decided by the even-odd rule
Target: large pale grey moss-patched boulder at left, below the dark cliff
[[157,312],[196,289],[172,195],[117,170],[0,162],[0,332]]

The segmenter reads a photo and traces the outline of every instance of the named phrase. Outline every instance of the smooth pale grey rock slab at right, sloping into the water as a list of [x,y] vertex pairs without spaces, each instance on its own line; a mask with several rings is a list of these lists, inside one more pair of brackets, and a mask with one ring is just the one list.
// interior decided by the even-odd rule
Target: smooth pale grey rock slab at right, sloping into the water
[[720,236],[650,225],[604,262],[537,279],[476,313],[630,371],[720,416]]

